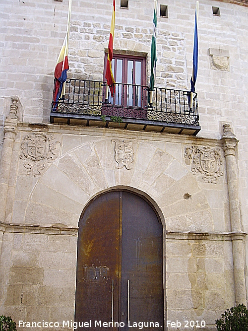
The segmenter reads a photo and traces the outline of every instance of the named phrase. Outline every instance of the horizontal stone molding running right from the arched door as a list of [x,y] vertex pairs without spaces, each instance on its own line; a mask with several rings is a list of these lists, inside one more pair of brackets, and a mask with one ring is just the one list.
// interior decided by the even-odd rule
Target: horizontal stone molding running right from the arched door
[[246,232],[180,232],[166,231],[166,239],[178,240],[245,240]]

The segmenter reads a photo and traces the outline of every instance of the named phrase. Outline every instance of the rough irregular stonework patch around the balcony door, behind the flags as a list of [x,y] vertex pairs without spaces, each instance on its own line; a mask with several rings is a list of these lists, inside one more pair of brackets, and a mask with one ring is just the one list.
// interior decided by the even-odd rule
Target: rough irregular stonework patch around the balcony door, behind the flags
[[[110,24],[72,20],[70,28],[70,72],[73,78],[103,80],[104,56]],[[115,26],[114,52],[147,57],[147,84],[150,72],[152,29]],[[186,45],[184,34],[159,29],[157,34],[156,86],[186,89]]]

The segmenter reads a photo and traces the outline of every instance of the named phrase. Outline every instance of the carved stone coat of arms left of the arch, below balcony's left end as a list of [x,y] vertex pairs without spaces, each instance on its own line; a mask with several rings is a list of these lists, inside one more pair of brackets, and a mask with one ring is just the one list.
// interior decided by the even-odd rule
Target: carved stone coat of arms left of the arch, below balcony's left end
[[55,141],[52,135],[31,133],[26,135],[21,143],[21,155],[25,173],[39,176],[46,168],[46,164],[54,161],[60,152],[61,143]]

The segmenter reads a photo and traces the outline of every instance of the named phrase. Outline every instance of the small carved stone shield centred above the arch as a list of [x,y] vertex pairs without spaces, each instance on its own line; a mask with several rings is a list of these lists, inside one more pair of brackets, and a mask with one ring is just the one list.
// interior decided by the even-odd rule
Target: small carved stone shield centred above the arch
[[134,153],[132,148],[132,141],[113,139],[116,143],[115,146],[115,160],[118,163],[118,167],[122,168],[123,166],[126,169],[131,169],[130,164],[134,161]]

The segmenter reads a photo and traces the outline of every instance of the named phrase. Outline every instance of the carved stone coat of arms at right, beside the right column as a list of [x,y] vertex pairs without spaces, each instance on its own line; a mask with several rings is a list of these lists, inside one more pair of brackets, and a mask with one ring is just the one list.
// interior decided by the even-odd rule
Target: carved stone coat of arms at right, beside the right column
[[187,147],[185,149],[185,162],[191,163],[194,174],[201,173],[202,179],[207,183],[216,184],[217,178],[223,176],[223,165],[220,149],[210,147]]

